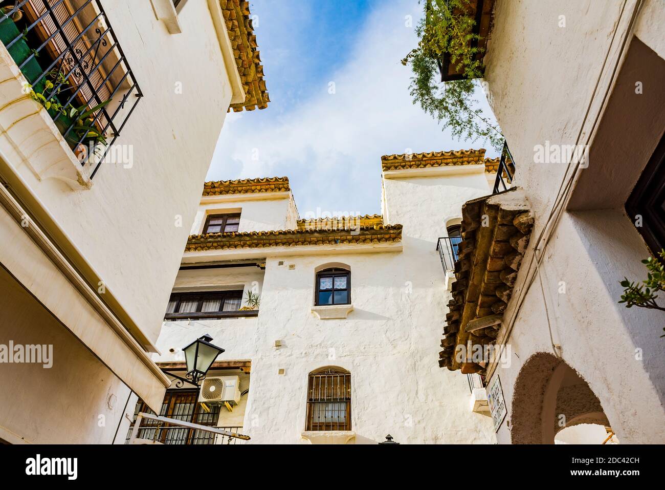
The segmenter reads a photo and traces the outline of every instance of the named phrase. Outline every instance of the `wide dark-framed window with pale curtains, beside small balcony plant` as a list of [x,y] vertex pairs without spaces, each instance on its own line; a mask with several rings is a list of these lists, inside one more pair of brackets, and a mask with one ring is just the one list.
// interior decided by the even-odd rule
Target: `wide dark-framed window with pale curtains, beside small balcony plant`
[[[166,320],[222,318],[238,312],[243,291],[174,293],[166,308]],[[253,310],[257,312],[257,310]],[[249,313],[249,312],[247,312]]]

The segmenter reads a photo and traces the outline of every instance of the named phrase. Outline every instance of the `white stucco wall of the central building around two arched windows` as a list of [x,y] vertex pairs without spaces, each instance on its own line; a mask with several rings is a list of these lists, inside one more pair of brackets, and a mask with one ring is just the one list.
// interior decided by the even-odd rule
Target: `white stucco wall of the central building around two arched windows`
[[[243,428],[251,443],[301,442],[307,375],[324,366],[351,373],[355,443],[382,441],[387,433],[400,443],[493,442],[491,419],[469,408],[466,377],[438,367],[450,297],[436,241],[446,236],[446,222],[460,215],[466,200],[489,192],[487,179],[477,169],[411,175],[383,182],[390,222],[404,226],[402,250],[353,253],[348,246],[339,252],[334,247],[315,252],[305,247],[300,254],[289,248],[283,255],[269,256],[258,318],[166,322],[158,340],[164,354],[155,359],[180,360],[180,348],[207,333],[226,350],[220,360],[251,360]],[[275,204],[261,202],[262,212]],[[223,258],[223,251],[218,252],[207,257]],[[256,258],[267,253],[253,252]],[[206,257],[188,253],[187,262],[196,256]],[[354,309],[346,319],[320,320],[311,312],[315,269],[332,262],[350,267]],[[209,287],[214,278],[218,286],[249,279],[234,278],[245,272],[233,271],[206,271],[205,280],[198,271],[196,279],[194,271],[182,271],[176,288]],[[281,347],[275,347],[275,340]]]

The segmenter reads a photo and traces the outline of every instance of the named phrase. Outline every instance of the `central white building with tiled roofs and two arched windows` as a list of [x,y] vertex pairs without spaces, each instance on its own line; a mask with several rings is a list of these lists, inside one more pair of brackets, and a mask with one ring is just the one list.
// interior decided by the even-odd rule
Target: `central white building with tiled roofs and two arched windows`
[[[493,442],[484,389],[438,366],[452,278],[438,242],[490,192],[496,163],[484,150],[384,156],[382,215],[321,220],[299,219],[287,178],[206,182],[155,359],[182,376],[181,349],[209,334],[225,352],[202,399],[206,381],[240,394],[194,414],[185,385],[162,414],[252,443]],[[247,292],[257,310],[239,310]]]

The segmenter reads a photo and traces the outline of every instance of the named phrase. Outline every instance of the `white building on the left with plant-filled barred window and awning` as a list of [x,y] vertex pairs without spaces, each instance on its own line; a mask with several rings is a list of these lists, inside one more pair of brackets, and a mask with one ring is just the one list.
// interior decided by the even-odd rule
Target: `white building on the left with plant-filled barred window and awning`
[[267,93],[246,1],[45,5],[0,13],[0,440],[123,443],[225,114]]

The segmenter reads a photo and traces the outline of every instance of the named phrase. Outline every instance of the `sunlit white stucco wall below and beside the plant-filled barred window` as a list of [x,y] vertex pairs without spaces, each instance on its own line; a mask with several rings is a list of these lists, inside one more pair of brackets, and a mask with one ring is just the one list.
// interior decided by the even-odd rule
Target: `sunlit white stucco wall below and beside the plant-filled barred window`
[[102,3],[144,94],[115,142],[132,147],[131,168],[104,163],[92,188],[72,190],[58,178],[38,177],[27,164],[8,163],[39,202],[34,212],[52,220],[63,248],[85,262],[83,269],[98,276],[130,322],[154,341],[231,85],[207,2],[187,3],[179,16],[182,33],[175,35],[149,1]]

